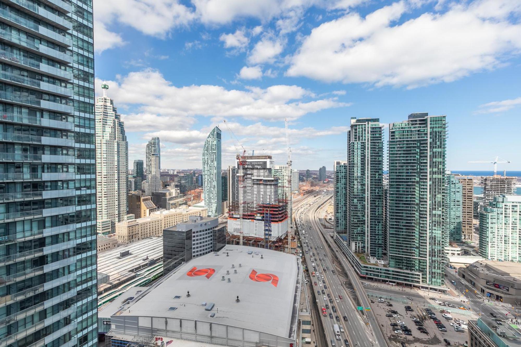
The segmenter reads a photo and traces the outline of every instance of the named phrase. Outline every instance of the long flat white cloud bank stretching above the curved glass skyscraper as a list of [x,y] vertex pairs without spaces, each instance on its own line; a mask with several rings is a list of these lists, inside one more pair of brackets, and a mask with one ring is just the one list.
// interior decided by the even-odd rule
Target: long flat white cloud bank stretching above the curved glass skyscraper
[[[102,81],[96,79],[95,83],[99,85]],[[272,85],[265,89],[252,87],[249,90],[227,90],[219,85],[177,87],[153,69],[130,72],[127,76],[119,76],[117,81],[106,83],[110,87],[109,96],[117,100],[118,105],[133,106],[140,115],[149,117],[218,116],[280,120],[350,105],[336,98],[315,100],[312,92],[296,85]],[[129,121],[127,117],[126,121]],[[137,117],[130,119],[137,121]],[[146,122],[152,123],[150,126],[157,130],[165,127],[163,122]]]

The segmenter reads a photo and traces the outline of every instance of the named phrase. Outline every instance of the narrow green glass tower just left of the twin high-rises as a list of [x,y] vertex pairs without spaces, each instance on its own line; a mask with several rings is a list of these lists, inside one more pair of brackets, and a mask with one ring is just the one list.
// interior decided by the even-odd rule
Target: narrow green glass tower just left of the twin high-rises
[[334,232],[346,239],[348,233],[348,162],[337,160],[333,164],[333,170]]

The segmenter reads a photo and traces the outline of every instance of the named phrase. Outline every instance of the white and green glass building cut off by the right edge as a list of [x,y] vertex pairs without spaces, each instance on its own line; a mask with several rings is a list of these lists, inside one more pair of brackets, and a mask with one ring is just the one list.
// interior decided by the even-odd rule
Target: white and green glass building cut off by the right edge
[[521,262],[521,195],[502,195],[479,216],[479,255],[485,259]]

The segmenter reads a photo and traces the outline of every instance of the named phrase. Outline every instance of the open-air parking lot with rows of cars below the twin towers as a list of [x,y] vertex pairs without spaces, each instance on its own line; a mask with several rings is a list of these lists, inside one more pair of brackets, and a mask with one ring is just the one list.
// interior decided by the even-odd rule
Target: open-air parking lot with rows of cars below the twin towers
[[[392,305],[392,306],[390,306]],[[445,346],[447,343],[444,339],[449,341],[451,345],[463,346],[468,340],[468,331],[456,331],[453,325],[456,321],[461,320],[466,322],[470,317],[469,312],[465,312],[461,309],[456,309],[458,313],[454,313],[455,309],[450,307],[439,306],[436,302],[425,300],[389,300],[389,298],[383,297],[382,299],[371,298],[371,306],[381,322],[384,333],[389,337],[389,340],[395,342],[396,345],[400,345],[401,342],[405,342],[408,346]],[[410,306],[410,311],[406,311],[405,306]],[[431,312],[435,317],[444,325],[446,331],[440,331],[438,326],[435,324],[435,320],[428,316],[426,309],[431,309]],[[451,311],[446,313],[447,316],[451,316],[453,319],[449,320],[444,318],[441,310]],[[394,311],[394,313],[392,312]],[[471,318],[472,319],[472,318]],[[421,332],[418,330],[419,326],[414,320],[418,321],[419,326],[423,326]],[[393,324],[393,326],[391,326]],[[407,329],[410,332],[407,332]],[[395,332],[396,331],[396,332]],[[406,334],[408,333],[408,334]]]

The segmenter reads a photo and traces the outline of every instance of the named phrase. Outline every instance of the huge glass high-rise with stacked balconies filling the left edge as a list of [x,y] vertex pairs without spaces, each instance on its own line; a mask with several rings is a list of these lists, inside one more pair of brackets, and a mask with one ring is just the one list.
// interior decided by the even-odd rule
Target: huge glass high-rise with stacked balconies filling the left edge
[[92,2],[6,0],[0,22],[0,345],[95,345]]

